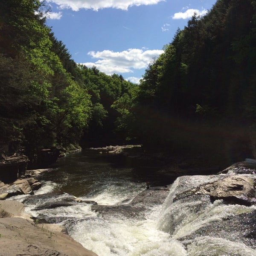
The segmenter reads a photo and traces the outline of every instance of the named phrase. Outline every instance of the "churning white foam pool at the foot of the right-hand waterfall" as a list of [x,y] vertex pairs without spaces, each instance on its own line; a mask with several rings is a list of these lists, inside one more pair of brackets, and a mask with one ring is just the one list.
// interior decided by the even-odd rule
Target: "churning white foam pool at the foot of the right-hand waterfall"
[[157,228],[159,207],[146,220],[108,218],[100,215],[79,222],[70,235],[99,256],[185,256],[183,245]]

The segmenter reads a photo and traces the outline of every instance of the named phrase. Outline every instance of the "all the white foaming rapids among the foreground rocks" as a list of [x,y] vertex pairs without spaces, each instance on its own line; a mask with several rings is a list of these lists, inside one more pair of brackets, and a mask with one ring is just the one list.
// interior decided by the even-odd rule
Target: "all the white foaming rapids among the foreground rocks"
[[[179,201],[173,202],[173,198],[178,192],[181,193],[193,186],[208,182],[212,177],[191,176],[184,184],[181,184],[179,179],[177,178],[170,186],[169,195],[164,204],[147,209],[143,220],[125,218],[123,215],[105,217],[92,211],[90,204],[37,211],[34,210],[37,205],[33,204],[26,205],[26,212],[35,218],[39,215],[72,217],[71,222],[64,220],[60,224],[67,227],[73,239],[99,256],[256,256],[256,250],[225,238],[199,236],[186,241],[186,236],[201,227],[212,225],[215,221],[229,216],[252,212],[256,207],[227,205],[221,200],[216,200],[195,213],[193,209],[201,207],[201,201],[188,201],[181,204]],[[44,186],[35,194],[52,192],[58,186],[50,181],[43,183]],[[137,186],[136,193],[144,189],[140,184],[130,184],[129,189],[132,186]],[[96,195],[80,198],[90,199],[98,204],[116,205],[125,198],[134,196],[134,191],[127,190],[125,187],[110,186]],[[22,196],[16,199],[22,201]],[[129,201],[125,201],[125,204]]]

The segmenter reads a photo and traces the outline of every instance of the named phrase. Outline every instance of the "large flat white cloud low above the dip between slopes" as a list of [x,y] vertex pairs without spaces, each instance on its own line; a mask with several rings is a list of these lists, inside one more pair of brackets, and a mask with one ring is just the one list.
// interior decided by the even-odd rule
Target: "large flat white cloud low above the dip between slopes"
[[153,58],[157,58],[163,50],[128,49],[122,52],[104,50],[88,52],[96,62],[83,63],[87,67],[96,66],[100,71],[111,75],[113,73],[129,73],[134,69],[143,69]]

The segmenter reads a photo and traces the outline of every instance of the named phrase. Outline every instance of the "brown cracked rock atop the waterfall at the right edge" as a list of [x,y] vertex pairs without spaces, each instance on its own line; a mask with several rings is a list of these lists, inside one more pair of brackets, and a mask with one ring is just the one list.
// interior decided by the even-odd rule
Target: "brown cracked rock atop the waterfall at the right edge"
[[198,186],[195,193],[210,195],[212,201],[223,199],[227,203],[250,206],[256,204],[254,184],[255,181],[252,178],[232,175]]

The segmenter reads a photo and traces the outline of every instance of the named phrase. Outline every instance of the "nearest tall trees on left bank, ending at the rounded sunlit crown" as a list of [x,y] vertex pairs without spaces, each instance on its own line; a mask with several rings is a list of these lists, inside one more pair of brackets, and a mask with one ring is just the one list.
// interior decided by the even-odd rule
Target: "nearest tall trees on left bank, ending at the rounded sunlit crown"
[[43,147],[78,141],[92,113],[84,84],[64,68],[74,62],[53,40],[41,8],[34,0],[0,3],[0,145],[24,146],[32,161]]

